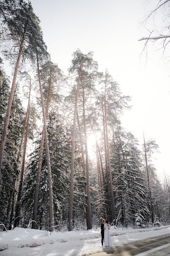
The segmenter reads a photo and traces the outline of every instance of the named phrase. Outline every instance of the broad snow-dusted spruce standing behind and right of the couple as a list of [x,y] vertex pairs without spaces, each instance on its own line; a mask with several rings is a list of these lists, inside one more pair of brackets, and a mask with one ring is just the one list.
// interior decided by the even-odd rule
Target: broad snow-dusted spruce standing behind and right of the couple
[[143,222],[148,220],[149,210],[142,177],[141,152],[131,133],[125,133],[121,126],[114,132],[112,166],[116,195],[116,211],[121,209],[122,225],[135,224],[136,216]]

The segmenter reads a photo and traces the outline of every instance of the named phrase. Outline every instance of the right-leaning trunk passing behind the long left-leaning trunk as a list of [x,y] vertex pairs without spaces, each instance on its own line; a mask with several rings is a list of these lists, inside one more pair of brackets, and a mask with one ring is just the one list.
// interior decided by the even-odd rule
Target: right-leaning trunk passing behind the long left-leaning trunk
[[[51,80],[50,80],[50,84],[48,86],[47,104],[46,104],[46,108],[45,108],[45,119],[47,119],[47,116],[48,116],[50,93],[51,93]],[[42,156],[43,156],[43,149],[44,149],[44,139],[45,139],[45,128],[43,126],[39,160],[38,160],[37,180],[36,180],[35,192],[34,192],[34,205],[33,205],[33,216],[32,216],[33,222],[32,222],[32,226],[31,226],[32,229],[37,228],[36,222],[37,222],[37,208],[38,208],[38,192],[39,192],[39,187],[40,187],[40,175],[41,175]],[[36,222],[34,222],[34,221],[36,221]]]

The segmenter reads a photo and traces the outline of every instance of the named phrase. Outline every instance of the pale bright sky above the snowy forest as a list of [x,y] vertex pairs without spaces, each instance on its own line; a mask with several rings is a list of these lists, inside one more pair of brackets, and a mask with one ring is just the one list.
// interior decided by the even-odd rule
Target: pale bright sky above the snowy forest
[[[154,47],[141,55],[148,32],[140,23],[157,0],[31,0],[41,20],[51,59],[67,73],[72,53],[94,51],[99,71],[107,68],[123,94],[132,97],[132,109],[121,118],[125,131],[142,143],[159,144],[154,164],[159,177],[169,172],[170,67]],[[161,17],[160,17],[161,20]],[[147,25],[150,24],[150,21]]]

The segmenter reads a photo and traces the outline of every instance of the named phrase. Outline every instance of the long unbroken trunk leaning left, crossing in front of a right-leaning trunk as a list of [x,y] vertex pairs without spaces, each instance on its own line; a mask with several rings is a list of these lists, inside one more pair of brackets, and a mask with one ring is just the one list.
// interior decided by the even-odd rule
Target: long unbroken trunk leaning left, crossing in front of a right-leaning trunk
[[44,107],[44,97],[43,97],[43,93],[42,93],[42,85],[41,85],[41,79],[40,79],[40,68],[39,68],[39,61],[38,61],[38,52],[37,52],[37,72],[38,72],[38,80],[39,80],[39,85],[40,85],[41,104],[42,104],[43,123],[44,123],[44,133],[45,133],[45,149],[46,149],[46,157],[47,157],[49,208],[50,208],[49,209],[49,212],[50,212],[50,231],[52,232],[52,231],[54,231],[53,188],[52,188],[51,165],[50,165],[50,151],[49,151],[49,145],[48,145],[48,134],[47,134],[45,107]]

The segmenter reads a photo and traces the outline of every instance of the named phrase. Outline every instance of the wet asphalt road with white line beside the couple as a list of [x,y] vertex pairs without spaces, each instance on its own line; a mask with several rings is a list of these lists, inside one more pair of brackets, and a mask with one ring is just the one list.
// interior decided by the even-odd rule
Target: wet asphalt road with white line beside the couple
[[100,252],[87,254],[87,256],[134,256],[138,254],[139,256],[170,256],[170,235],[102,248]]

